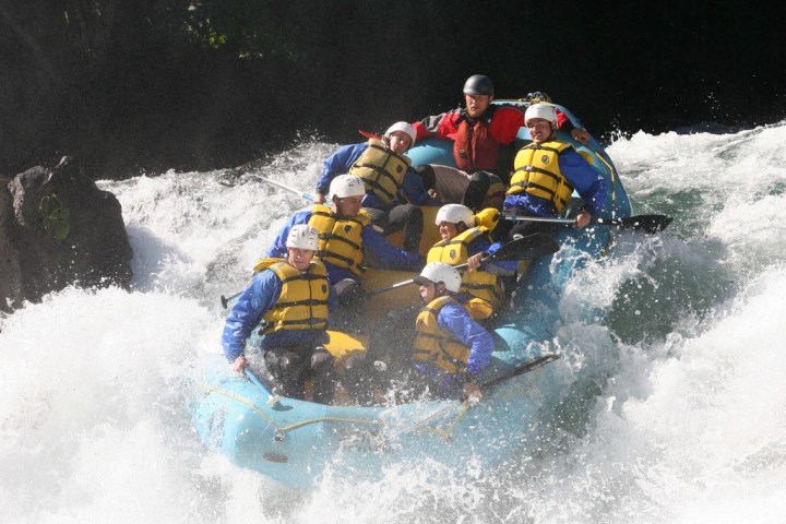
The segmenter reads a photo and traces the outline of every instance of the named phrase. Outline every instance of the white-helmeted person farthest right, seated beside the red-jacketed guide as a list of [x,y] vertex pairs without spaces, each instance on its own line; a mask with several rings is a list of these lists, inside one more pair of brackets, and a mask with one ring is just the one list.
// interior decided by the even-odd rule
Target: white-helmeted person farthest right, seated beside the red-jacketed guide
[[[570,143],[557,139],[558,116],[553,106],[533,104],[525,120],[533,141],[515,156],[504,210],[514,215],[558,216],[567,210],[575,190],[584,201],[575,216],[575,227],[585,227],[593,214],[603,210],[608,194],[606,180]],[[510,229],[509,236],[517,238],[550,229],[545,223],[522,221]]]

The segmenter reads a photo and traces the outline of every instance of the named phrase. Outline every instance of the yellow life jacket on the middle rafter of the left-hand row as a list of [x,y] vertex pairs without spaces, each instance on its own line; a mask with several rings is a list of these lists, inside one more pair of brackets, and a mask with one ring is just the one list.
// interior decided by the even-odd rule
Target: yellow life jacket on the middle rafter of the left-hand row
[[371,224],[371,216],[360,210],[357,216],[344,217],[333,213],[326,205],[311,207],[309,226],[319,233],[317,257],[338,267],[347,267],[356,275],[362,275],[362,230]]

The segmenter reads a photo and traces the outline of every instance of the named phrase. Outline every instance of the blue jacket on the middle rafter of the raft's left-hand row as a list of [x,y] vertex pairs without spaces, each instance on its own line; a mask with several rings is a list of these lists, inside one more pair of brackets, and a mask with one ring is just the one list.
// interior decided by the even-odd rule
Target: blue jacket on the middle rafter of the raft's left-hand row
[[[311,218],[311,210],[300,211],[289,218],[281,228],[273,245],[267,249],[265,257],[270,258],[284,258],[286,257],[286,238],[289,235],[289,229],[298,224],[308,224]],[[396,248],[390,243],[373,226],[366,226],[360,234],[362,236],[364,248],[369,249],[373,252],[380,261],[383,270],[400,270],[400,271],[420,271],[422,262],[418,253],[412,253],[404,251],[403,249]],[[334,264],[325,262],[327,267],[327,279],[331,284],[343,281],[344,278],[352,278],[357,281],[358,277],[350,270],[346,267],[338,267]]]

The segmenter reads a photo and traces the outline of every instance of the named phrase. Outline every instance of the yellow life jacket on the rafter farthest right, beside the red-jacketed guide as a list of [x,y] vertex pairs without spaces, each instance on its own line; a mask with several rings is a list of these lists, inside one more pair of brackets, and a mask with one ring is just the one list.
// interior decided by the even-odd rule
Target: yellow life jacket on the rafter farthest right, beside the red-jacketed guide
[[513,160],[515,171],[508,194],[526,192],[553,203],[562,213],[573,194],[573,184],[562,175],[559,155],[573,146],[558,140],[525,145]]

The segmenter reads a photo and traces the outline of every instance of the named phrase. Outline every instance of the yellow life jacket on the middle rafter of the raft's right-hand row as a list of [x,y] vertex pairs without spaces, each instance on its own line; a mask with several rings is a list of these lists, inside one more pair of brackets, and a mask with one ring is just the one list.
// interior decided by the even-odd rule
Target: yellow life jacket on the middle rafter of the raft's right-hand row
[[[469,258],[469,245],[477,238],[488,236],[488,228],[476,226],[460,233],[450,240],[437,242],[429,250],[426,263],[464,264]],[[460,270],[460,273],[462,274],[460,293],[467,293],[475,298],[485,300],[491,310],[499,307],[502,301],[502,286],[500,286],[497,275],[487,271],[467,271],[466,269]],[[473,318],[478,319],[477,317]],[[481,318],[488,318],[488,315]]]

